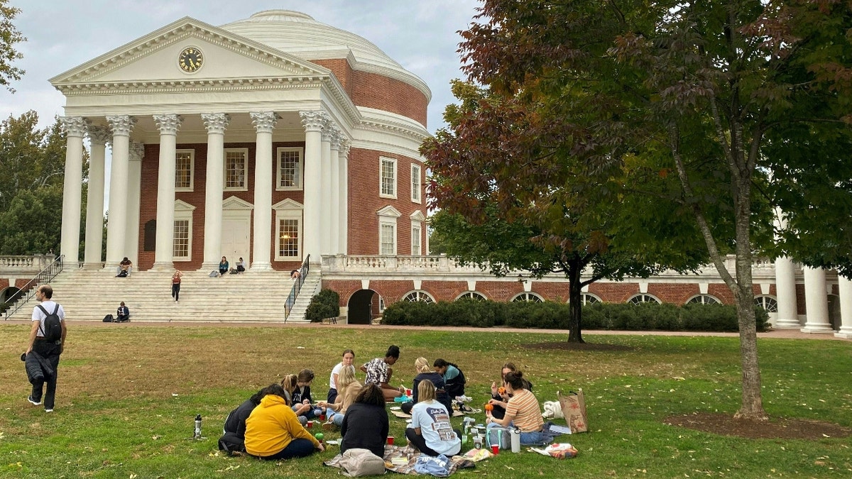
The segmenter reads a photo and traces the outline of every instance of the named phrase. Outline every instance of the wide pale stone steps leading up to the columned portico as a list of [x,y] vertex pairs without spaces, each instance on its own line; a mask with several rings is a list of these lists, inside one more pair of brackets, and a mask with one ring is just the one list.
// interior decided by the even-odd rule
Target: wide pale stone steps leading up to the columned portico
[[[135,271],[127,278],[115,278],[112,271],[63,271],[52,282],[54,298],[75,321],[100,321],[115,315],[118,303],[130,308],[130,320],[284,322],[285,302],[293,281],[285,272],[226,274],[210,278],[209,273],[190,271],[181,280],[180,302],[171,297],[172,271]],[[302,292],[293,304],[288,323],[305,322],[311,297],[320,291],[319,266],[311,268]],[[28,303],[10,319],[22,320],[32,314]]]

